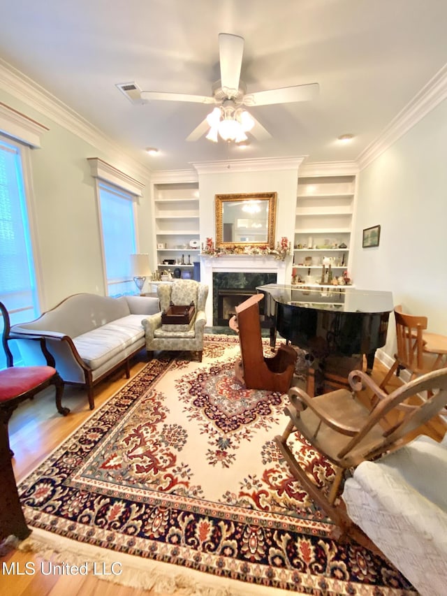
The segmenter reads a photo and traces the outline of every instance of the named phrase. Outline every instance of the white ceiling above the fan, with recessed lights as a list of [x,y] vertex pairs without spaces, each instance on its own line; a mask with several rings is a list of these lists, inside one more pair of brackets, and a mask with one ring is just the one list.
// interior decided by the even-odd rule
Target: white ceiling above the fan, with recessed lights
[[[3,60],[152,170],[357,159],[447,61],[446,0],[0,0],[0,13]],[[245,40],[248,92],[320,85],[311,102],[250,108],[272,138],[251,138],[243,152],[186,142],[210,106],[135,106],[115,87],[210,95],[220,32]],[[355,135],[351,144],[336,142],[343,133]]]

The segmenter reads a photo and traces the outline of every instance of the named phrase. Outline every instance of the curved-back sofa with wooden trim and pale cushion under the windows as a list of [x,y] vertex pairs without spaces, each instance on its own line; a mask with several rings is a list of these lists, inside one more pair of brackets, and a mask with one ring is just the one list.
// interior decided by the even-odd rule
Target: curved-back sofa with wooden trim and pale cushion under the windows
[[19,340],[25,364],[42,358],[36,338],[43,337],[59,375],[66,384],[84,385],[93,409],[98,381],[120,366],[129,378],[129,360],[146,344],[141,321],[156,312],[158,298],[79,293],[35,321],[13,326],[11,335]]

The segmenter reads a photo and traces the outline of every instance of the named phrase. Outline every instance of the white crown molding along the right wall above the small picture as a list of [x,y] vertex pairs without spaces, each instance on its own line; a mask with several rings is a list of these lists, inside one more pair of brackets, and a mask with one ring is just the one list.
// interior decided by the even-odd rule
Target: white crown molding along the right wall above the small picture
[[447,64],[413,97],[356,161],[360,170],[386,151],[447,97]]

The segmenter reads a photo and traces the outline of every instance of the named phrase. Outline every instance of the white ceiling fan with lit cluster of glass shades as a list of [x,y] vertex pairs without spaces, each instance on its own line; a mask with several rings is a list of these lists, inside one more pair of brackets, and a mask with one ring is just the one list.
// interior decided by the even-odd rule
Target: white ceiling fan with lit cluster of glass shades
[[[227,141],[240,143],[247,140],[247,132],[258,140],[270,138],[270,133],[243,106],[254,108],[268,106],[273,103],[292,103],[308,101],[318,94],[318,83],[295,85],[270,89],[247,94],[247,89],[240,80],[244,38],[228,34],[219,34],[219,61],[221,78],[212,85],[212,96],[189,95],[184,93],[165,93],[155,91],[139,91],[142,101],[187,101],[193,103],[209,103],[216,107],[200,122],[186,140],[198,140],[207,133],[207,138],[217,143],[218,137]],[[118,87],[126,92],[124,85]],[[135,92],[136,89],[133,89]]]

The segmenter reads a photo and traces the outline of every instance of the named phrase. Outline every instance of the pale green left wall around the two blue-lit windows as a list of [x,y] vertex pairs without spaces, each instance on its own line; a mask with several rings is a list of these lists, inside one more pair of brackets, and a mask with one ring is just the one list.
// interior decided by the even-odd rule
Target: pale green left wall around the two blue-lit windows
[[[31,151],[36,240],[41,268],[41,310],[77,292],[104,294],[96,185],[87,157],[99,157],[145,184],[138,199],[140,252],[152,252],[149,170],[126,159],[100,138],[87,142],[0,89],[0,101],[47,126],[42,148]],[[99,138],[99,137],[98,137]]]

